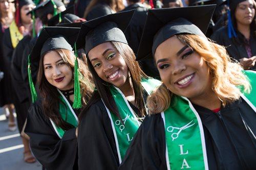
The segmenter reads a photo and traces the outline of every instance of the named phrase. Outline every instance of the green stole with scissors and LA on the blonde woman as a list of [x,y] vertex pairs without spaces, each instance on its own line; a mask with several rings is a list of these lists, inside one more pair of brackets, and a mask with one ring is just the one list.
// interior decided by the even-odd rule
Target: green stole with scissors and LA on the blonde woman
[[[242,93],[241,98],[256,112],[256,73],[244,73],[252,89],[249,94]],[[203,125],[191,102],[175,95],[161,116],[165,127],[167,169],[208,169]]]

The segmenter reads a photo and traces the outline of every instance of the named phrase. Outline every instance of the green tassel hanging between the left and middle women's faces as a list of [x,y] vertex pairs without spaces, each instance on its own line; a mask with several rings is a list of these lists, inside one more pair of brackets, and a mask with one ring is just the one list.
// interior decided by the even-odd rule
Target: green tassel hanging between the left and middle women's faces
[[80,72],[78,70],[78,61],[77,61],[76,43],[75,43],[74,103],[72,106],[74,109],[79,109],[82,107],[79,77],[80,77]]

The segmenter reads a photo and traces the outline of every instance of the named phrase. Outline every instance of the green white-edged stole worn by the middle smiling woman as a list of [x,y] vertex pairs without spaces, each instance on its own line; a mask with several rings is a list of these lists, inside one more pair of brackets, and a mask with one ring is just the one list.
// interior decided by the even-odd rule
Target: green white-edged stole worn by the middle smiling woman
[[[161,83],[155,79],[143,79],[141,84],[146,92],[150,94]],[[121,163],[122,158],[124,157],[126,150],[131,144],[131,141],[133,140],[133,137],[141,123],[136,118],[133,109],[129,105],[121,90],[115,86],[111,86],[110,91],[123,122],[122,123],[121,120],[115,114],[111,113],[110,110],[105,106],[111,120],[112,130],[116,141],[118,159],[119,163]]]

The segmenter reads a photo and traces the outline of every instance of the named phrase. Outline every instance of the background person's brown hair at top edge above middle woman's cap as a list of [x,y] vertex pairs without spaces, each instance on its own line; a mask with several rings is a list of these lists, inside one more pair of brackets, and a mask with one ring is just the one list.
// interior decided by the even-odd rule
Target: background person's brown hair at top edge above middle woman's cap
[[91,12],[93,7],[100,3],[104,3],[110,6],[110,8],[115,12],[119,12],[124,9],[122,0],[92,0],[84,11],[83,18],[86,19],[87,15],[89,14],[89,12]]

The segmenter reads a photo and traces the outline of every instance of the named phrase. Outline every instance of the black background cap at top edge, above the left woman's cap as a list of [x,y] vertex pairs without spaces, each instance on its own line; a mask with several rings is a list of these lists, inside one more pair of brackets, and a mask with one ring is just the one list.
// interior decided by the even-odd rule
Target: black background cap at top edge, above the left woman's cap
[[[64,6],[64,4],[59,0],[53,0],[53,1],[56,4],[57,8],[60,6]],[[51,0],[47,0],[45,2],[38,4],[32,11],[35,12],[35,17],[39,17],[41,19],[45,15],[47,15],[49,13],[53,13],[54,6],[53,6]],[[28,14],[31,13],[32,11],[28,12]]]

